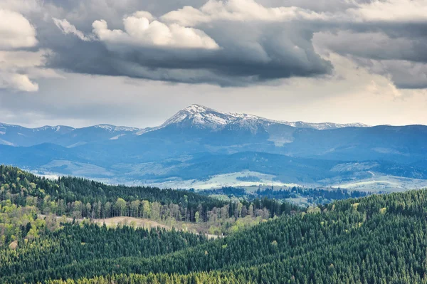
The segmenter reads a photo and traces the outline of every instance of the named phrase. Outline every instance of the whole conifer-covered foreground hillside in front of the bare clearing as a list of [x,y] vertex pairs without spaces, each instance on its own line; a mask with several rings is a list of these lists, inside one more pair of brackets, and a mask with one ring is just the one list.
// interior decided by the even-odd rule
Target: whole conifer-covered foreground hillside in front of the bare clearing
[[[11,217],[16,198],[1,196]],[[36,220],[22,225],[31,237],[2,246],[0,282],[427,283],[426,204],[427,189],[335,201],[214,241],[89,223],[51,231],[48,220],[34,236]]]

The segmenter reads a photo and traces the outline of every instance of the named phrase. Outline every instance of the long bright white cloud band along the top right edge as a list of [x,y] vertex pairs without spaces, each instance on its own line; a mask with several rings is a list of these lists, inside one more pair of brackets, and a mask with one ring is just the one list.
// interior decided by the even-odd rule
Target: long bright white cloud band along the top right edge
[[[346,9],[326,12],[301,6],[268,7],[255,0],[209,0],[196,9],[184,6],[160,17],[168,23],[197,26],[213,21],[325,21],[360,23],[372,21],[427,21],[427,0],[344,1]],[[294,4],[296,4],[294,2]]]

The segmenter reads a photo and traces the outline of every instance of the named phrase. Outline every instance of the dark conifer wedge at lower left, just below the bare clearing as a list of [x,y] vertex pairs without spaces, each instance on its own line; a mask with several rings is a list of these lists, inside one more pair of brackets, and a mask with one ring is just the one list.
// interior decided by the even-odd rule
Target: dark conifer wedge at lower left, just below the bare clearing
[[207,242],[202,235],[161,228],[65,223],[60,230],[45,229],[41,238],[19,238],[16,248],[0,250],[0,275],[20,275],[95,259],[149,258]]

